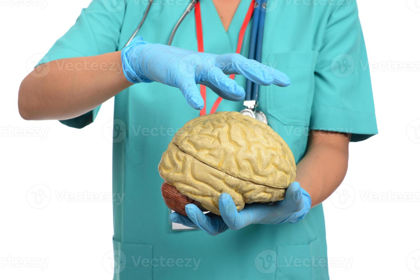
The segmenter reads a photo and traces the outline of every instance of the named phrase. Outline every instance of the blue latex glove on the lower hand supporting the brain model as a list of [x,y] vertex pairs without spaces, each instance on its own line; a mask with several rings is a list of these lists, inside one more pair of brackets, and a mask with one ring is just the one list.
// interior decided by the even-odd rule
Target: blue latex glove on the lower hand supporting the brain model
[[281,201],[245,204],[244,209],[238,212],[232,197],[223,193],[219,197],[221,216],[213,213],[204,214],[196,205],[187,204],[185,211],[188,217],[172,213],[170,218],[172,222],[190,228],[200,228],[210,235],[217,235],[228,228],[239,230],[251,224],[295,223],[306,216],[310,207],[311,197],[298,182],[294,182],[286,189],[284,200]]

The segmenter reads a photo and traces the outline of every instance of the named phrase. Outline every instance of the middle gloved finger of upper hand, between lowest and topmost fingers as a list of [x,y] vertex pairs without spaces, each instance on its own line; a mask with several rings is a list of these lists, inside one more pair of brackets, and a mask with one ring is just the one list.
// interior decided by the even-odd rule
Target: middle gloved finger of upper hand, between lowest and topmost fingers
[[226,76],[220,68],[208,67],[203,69],[201,78],[204,80],[202,84],[208,86],[208,82],[211,83],[213,87],[210,88],[223,99],[241,101],[245,98],[244,88]]

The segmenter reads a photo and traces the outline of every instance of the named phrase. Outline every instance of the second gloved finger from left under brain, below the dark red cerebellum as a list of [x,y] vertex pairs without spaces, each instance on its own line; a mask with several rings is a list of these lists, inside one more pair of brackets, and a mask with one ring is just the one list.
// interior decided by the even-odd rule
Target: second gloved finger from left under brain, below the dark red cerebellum
[[209,217],[205,215],[195,204],[186,204],[185,212],[197,227],[212,236],[223,233],[228,228],[220,217]]

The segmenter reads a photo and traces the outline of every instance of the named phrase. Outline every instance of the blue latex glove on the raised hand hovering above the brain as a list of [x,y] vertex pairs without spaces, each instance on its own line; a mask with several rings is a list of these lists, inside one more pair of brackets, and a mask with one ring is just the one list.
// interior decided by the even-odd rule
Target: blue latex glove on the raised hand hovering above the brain
[[239,54],[213,55],[205,52],[151,44],[135,38],[121,51],[124,75],[131,83],[157,81],[181,90],[188,104],[201,110],[204,101],[197,88],[203,84],[220,97],[240,101],[244,89],[229,79],[228,74],[241,74],[247,79],[268,86],[288,86],[290,79],[280,71],[249,60]]

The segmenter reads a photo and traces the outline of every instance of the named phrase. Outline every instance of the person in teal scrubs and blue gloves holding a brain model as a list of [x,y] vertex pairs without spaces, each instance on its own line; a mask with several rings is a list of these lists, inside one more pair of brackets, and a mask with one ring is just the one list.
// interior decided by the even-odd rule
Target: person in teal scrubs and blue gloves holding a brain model
[[[321,202],[346,174],[349,141],[377,128],[356,2],[316,2],[269,2],[263,66],[244,58],[252,19],[238,43],[251,0],[200,1],[171,46],[190,1],[160,0],[127,47],[147,3],[93,0],[22,81],[24,119],[74,128],[115,96],[113,192],[125,196],[113,205],[114,279],[328,279]],[[258,108],[289,144],[299,183],[284,201],[239,213],[222,194],[221,216],[192,204],[188,218],[171,214],[157,165],[173,131],[199,112],[243,109],[246,79],[261,85]],[[137,133],[140,125],[159,132]],[[199,230],[174,231],[170,221]]]

